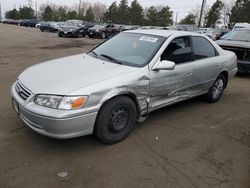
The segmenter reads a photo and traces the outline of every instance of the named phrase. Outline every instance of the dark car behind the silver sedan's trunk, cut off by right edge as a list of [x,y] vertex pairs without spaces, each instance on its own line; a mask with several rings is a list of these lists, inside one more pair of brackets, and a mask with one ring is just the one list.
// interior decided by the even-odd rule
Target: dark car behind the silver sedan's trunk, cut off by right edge
[[250,29],[234,29],[216,42],[237,55],[239,73],[250,73]]

